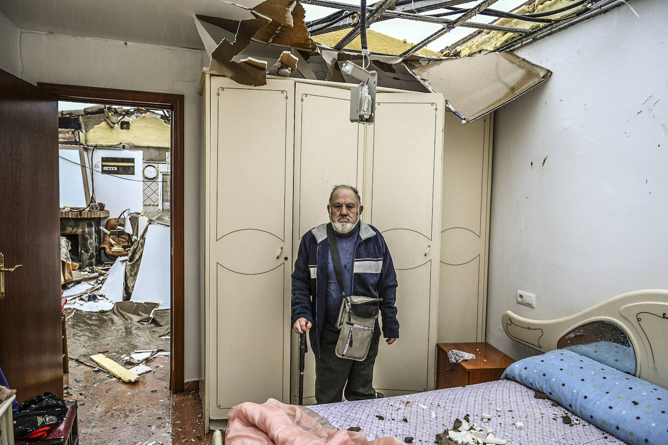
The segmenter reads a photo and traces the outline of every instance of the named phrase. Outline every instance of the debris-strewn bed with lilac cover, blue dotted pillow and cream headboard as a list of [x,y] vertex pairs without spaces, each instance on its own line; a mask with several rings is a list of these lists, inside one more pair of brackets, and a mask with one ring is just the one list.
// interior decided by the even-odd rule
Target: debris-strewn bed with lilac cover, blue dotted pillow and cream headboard
[[542,354],[501,380],[299,410],[339,435],[353,428],[395,441],[387,443],[668,444],[667,314],[667,290],[630,292],[558,320],[506,311],[506,334]]

